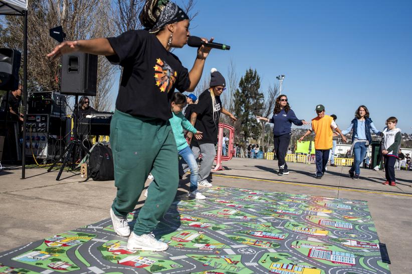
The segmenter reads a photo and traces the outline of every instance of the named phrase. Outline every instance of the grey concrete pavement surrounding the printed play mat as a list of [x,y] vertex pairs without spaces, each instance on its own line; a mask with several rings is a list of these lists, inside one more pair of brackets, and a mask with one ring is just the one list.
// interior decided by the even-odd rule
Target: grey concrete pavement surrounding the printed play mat
[[[396,171],[397,185],[381,183],[383,171],[361,169],[359,180],[347,175],[349,167],[328,167],[322,179],[314,178],[315,165],[288,163],[290,174],[274,172],[277,161],[234,158],[227,170],[214,172],[214,185],[248,187],[288,193],[340,197],[368,201],[381,242],[386,243],[392,273],[412,272],[412,172]],[[113,181],[82,182],[79,173],[43,168],[0,171],[0,252],[47,236],[109,217],[115,196]],[[188,182],[185,178],[183,182]],[[148,182],[146,182],[148,183]],[[187,192],[187,185],[178,194]],[[143,195],[140,204],[143,203]]]

